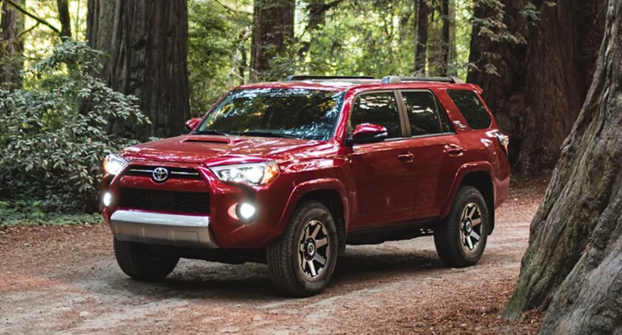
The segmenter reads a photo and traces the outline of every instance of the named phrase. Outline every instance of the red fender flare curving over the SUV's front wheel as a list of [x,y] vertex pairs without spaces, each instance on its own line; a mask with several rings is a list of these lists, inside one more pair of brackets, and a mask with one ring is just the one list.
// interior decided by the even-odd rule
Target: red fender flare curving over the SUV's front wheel
[[287,227],[290,217],[294,213],[296,206],[300,202],[300,199],[305,194],[313,191],[319,190],[334,190],[339,193],[339,197],[341,198],[341,206],[343,207],[343,220],[345,225],[345,231],[348,231],[348,223],[350,222],[350,210],[347,192],[345,191],[345,186],[343,183],[336,178],[323,178],[323,179],[314,179],[311,181],[305,181],[303,183],[299,183],[294,187],[290,197],[285,204],[285,210],[283,210],[283,214],[281,214],[281,219],[277,224],[277,232],[279,234],[285,231],[285,227]]

